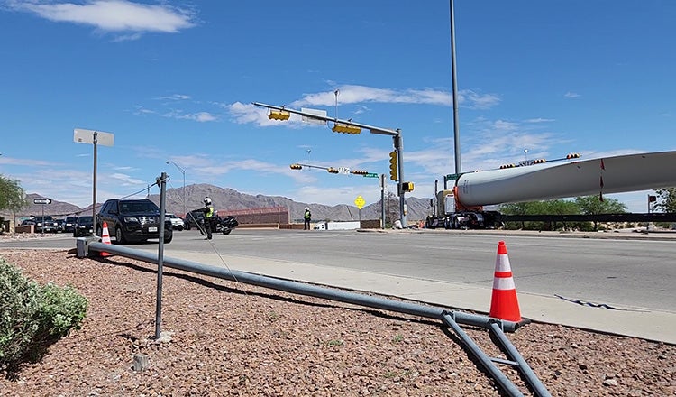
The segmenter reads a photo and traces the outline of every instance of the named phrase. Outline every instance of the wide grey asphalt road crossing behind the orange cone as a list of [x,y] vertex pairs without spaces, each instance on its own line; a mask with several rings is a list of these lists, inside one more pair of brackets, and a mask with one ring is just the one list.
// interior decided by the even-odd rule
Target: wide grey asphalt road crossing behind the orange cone
[[[236,229],[209,242],[191,230],[176,232],[165,254],[217,252],[490,288],[500,240],[519,292],[676,312],[676,240]],[[157,250],[156,243],[130,246]],[[73,248],[75,240],[0,240],[5,247]]]

